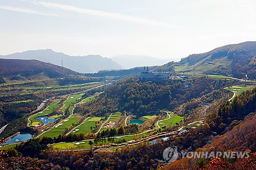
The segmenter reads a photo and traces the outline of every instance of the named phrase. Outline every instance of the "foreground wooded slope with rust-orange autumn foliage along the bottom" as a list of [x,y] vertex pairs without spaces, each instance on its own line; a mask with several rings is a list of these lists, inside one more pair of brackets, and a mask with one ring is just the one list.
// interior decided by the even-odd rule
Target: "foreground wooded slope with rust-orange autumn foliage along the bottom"
[[[229,104],[223,103],[215,110],[209,113],[209,117],[221,117],[218,125],[226,124],[227,126],[233,126],[233,120],[231,123],[227,122],[230,119],[230,115],[237,115],[239,112],[243,114],[238,116],[238,121],[250,114],[251,110],[255,110],[256,103],[256,89],[248,90],[238,96],[236,101],[233,101],[230,105],[228,112],[223,111],[223,108],[227,108]],[[234,108],[241,104],[242,107]],[[225,107],[224,107],[225,106]],[[250,108],[247,110],[247,108]],[[225,119],[224,117],[227,117]],[[229,118],[228,118],[229,117]],[[180,133],[175,136],[170,136],[166,141],[158,140],[155,144],[141,143],[133,147],[126,147],[118,149],[116,151],[68,151],[68,152],[51,152],[45,150],[46,145],[40,145],[40,139],[32,139],[20,147],[16,147],[17,151],[25,154],[28,153],[31,146],[33,146],[33,152],[30,152],[31,157],[16,157],[17,152],[14,149],[7,151],[2,151],[0,153],[1,166],[2,167],[13,167],[11,161],[17,161],[17,167],[24,168],[30,167],[31,169],[250,169],[255,167],[255,141],[253,140],[253,134],[255,133],[255,113],[251,113],[246,117],[244,122],[240,123],[239,126],[230,129],[220,128],[218,134],[227,131],[224,136],[219,138],[216,134],[216,130],[212,127],[216,125],[211,124],[213,118],[208,119],[208,123],[199,126],[196,129],[190,129],[188,132]],[[238,125],[239,123],[236,123]],[[214,130],[214,131],[212,131]],[[244,131],[248,132],[248,135],[252,137],[243,138]],[[239,135],[241,134],[241,135]],[[225,137],[226,136],[226,137]],[[232,136],[237,136],[237,141],[233,141]],[[255,135],[254,135],[255,136]],[[219,138],[210,142],[211,139],[215,137]],[[248,139],[248,140],[247,140]],[[244,145],[239,145],[241,143]],[[244,141],[246,140],[246,141]],[[210,142],[210,144],[207,144]],[[207,145],[205,145],[207,144]],[[207,151],[207,148],[211,151],[216,149],[217,151],[223,151],[226,149],[241,149],[244,151],[246,149],[251,150],[249,159],[181,159],[175,161],[171,164],[165,164],[162,160],[163,150],[170,145],[176,145],[178,150],[181,151]],[[205,146],[205,148],[203,148]],[[220,147],[219,147],[220,146]],[[238,148],[239,147],[239,148]],[[39,154],[41,153],[41,154]],[[8,157],[7,154],[14,157]],[[39,156],[40,155],[40,156]],[[39,157],[39,160],[38,160]],[[163,166],[164,165],[164,166]],[[162,166],[162,167],[161,167]],[[240,168],[242,167],[242,168]],[[252,168],[253,169],[253,168]]]

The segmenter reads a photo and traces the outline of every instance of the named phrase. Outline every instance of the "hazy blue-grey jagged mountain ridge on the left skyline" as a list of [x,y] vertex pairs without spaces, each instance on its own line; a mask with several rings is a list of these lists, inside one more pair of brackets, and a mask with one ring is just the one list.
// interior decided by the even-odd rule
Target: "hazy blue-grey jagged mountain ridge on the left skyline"
[[48,50],[30,50],[22,53],[14,53],[0,58],[6,59],[35,59],[43,62],[49,62],[75,70],[77,72],[88,73],[97,72],[103,69],[121,69],[123,68],[118,63],[110,58],[103,58],[100,55],[88,56],[69,56],[63,53],[56,53],[50,49]]

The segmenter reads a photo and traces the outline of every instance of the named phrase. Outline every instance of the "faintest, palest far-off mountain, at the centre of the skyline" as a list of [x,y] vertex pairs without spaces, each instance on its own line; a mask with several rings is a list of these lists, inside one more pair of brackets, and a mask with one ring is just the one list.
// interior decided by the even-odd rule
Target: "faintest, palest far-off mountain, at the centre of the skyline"
[[136,56],[136,55],[121,55],[111,57],[111,59],[120,64],[124,69],[130,69],[139,66],[155,66],[163,65],[172,59],[160,59],[150,56]]

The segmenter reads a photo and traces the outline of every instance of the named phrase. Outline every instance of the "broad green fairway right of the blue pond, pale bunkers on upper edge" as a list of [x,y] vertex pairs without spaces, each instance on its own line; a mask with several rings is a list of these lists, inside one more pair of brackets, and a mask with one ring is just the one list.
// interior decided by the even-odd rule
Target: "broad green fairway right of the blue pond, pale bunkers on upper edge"
[[79,119],[75,117],[69,117],[68,119],[62,120],[60,123],[55,125],[51,130],[42,134],[40,138],[44,136],[48,136],[51,138],[58,137],[58,135],[65,133],[66,128],[71,127],[72,124],[77,124],[78,120]]

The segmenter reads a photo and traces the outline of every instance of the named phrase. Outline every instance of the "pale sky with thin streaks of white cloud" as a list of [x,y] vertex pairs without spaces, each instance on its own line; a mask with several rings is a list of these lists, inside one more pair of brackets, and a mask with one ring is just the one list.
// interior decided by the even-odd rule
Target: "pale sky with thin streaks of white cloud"
[[254,0],[0,0],[0,55],[50,48],[178,61],[255,40]]

